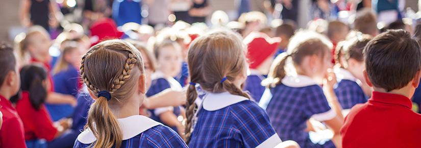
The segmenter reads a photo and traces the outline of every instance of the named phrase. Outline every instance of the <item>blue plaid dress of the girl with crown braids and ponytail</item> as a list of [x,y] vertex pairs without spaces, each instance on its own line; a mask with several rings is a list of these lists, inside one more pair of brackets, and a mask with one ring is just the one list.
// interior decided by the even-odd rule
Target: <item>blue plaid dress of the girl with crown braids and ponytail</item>
[[[90,147],[90,145],[76,140],[73,147],[85,148]],[[187,145],[175,131],[166,126],[158,125],[121,142],[121,148],[135,147],[187,147]]]

